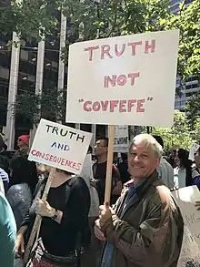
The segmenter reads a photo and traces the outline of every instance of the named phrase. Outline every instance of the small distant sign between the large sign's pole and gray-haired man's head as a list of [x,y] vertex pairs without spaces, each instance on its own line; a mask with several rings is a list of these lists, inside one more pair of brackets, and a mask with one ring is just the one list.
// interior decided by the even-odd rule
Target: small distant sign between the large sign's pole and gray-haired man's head
[[115,126],[114,152],[127,153],[128,147],[128,126]]

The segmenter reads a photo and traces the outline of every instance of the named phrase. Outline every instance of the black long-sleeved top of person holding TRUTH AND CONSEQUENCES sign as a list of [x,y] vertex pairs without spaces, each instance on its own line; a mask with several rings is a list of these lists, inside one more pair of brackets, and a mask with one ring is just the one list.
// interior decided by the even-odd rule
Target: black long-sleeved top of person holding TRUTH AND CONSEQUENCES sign
[[[35,201],[41,198],[45,188],[45,180],[41,180],[35,190],[35,196],[23,225],[28,226],[26,241],[35,221]],[[88,224],[90,194],[85,180],[80,177],[66,180],[57,188],[50,188],[47,202],[58,211],[63,211],[61,223],[48,217],[42,218],[40,237],[47,252],[55,256],[66,256],[75,249],[78,234],[83,234]]]

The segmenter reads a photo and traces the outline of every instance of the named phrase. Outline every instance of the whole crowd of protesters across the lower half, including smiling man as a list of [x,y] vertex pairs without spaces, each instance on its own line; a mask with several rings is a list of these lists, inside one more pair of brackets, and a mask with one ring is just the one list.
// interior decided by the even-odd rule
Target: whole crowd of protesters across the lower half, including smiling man
[[[171,191],[200,188],[200,148],[163,156],[159,136],[140,134],[112,169],[110,203],[104,203],[109,139],[90,147],[80,175],[29,161],[29,136],[18,138],[12,159],[0,135],[0,266],[175,267],[184,221]],[[92,154],[95,156],[92,157]],[[199,202],[197,202],[199,209]],[[41,227],[29,257],[25,249],[35,216]]]

